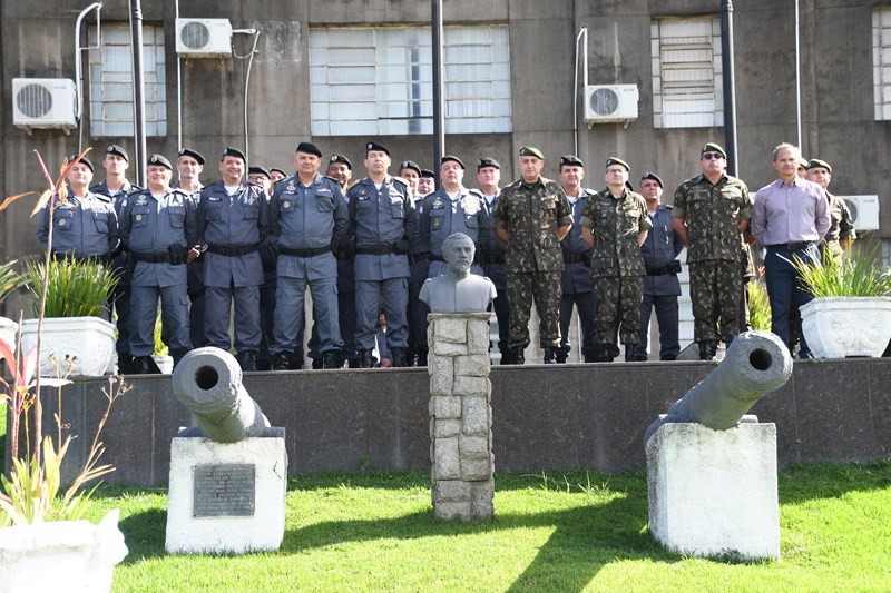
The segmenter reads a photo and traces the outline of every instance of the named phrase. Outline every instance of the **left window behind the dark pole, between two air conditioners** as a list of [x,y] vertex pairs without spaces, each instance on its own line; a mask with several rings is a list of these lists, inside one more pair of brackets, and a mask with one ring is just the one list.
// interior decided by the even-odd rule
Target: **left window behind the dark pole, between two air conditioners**
[[[130,28],[102,26],[101,50],[90,50],[90,128],[94,136],[133,136],[133,56]],[[96,29],[90,29],[96,46]],[[146,135],[167,135],[164,28],[143,26]]]

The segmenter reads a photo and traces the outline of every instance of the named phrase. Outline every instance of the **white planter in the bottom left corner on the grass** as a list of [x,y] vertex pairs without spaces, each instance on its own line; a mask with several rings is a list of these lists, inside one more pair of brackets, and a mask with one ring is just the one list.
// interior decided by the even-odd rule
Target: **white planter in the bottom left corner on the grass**
[[0,590],[111,590],[115,565],[127,556],[115,508],[94,525],[60,521],[0,530]]

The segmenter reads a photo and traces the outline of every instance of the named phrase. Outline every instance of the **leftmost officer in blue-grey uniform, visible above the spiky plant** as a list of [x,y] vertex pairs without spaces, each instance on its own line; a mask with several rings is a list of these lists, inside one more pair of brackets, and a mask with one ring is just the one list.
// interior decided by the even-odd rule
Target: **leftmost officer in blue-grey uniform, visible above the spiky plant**
[[[77,155],[68,157],[74,162]],[[46,251],[52,209],[52,255],[107,261],[118,247],[118,218],[108,196],[91,192],[92,162],[86,157],[71,166],[65,201],[53,196],[37,219],[37,243]]]

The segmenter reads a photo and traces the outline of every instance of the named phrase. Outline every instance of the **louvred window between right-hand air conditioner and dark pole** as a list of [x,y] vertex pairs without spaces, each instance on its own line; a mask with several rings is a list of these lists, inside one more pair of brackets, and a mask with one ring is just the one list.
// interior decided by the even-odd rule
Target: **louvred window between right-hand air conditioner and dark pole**
[[721,19],[659,19],[650,26],[653,125],[724,125]]

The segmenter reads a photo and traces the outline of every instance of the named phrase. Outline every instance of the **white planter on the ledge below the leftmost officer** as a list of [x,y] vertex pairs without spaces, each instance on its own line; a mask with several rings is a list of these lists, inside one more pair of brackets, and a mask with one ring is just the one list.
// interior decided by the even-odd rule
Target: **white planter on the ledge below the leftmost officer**
[[[21,347],[28,352],[37,346],[37,319],[21,325]],[[71,375],[98,377],[105,374],[115,355],[115,326],[99,317],[46,318],[41,350],[41,376],[58,376],[56,365],[48,360],[52,354],[60,366],[65,365],[66,356],[77,357]]]

